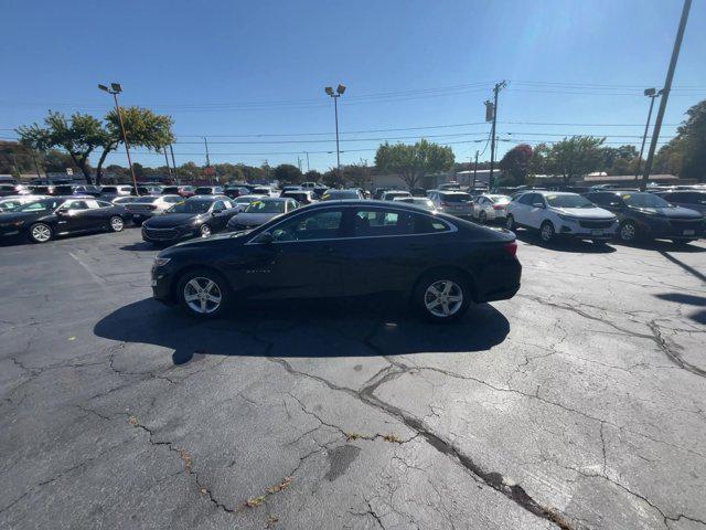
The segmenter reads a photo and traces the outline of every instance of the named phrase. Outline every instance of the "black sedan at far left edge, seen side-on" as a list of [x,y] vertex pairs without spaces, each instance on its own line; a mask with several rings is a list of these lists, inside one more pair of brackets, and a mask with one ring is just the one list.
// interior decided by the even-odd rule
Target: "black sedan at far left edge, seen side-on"
[[52,197],[0,213],[0,237],[26,236],[46,243],[57,235],[109,230],[121,232],[125,208],[92,198]]

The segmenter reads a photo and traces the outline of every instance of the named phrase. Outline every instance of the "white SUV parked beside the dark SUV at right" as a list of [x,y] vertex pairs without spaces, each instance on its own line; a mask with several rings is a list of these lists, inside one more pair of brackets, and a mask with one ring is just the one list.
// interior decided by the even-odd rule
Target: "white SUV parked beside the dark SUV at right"
[[539,231],[543,242],[557,236],[602,243],[616,235],[618,218],[578,193],[527,191],[507,205],[505,226]]

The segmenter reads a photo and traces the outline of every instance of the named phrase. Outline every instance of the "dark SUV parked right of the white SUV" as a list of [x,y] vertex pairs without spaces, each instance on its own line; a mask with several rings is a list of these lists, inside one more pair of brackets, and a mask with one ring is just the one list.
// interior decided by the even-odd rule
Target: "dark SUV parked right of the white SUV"
[[687,243],[704,236],[704,216],[675,206],[644,191],[596,191],[585,195],[593,204],[618,216],[618,236],[625,243],[644,239]]

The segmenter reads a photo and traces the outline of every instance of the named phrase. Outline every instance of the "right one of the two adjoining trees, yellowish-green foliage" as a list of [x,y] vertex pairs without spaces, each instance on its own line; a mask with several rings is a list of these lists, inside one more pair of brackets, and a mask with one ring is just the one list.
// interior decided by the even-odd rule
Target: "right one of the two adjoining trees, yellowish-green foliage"
[[[159,116],[148,108],[124,107],[120,109],[125,136],[129,146],[146,147],[149,150],[159,151],[174,141],[172,134],[172,118]],[[100,183],[103,177],[103,163],[110,151],[115,151],[122,144],[120,120],[116,110],[106,115],[105,141],[103,152],[96,166],[96,183]],[[136,173],[137,176],[137,173]]]

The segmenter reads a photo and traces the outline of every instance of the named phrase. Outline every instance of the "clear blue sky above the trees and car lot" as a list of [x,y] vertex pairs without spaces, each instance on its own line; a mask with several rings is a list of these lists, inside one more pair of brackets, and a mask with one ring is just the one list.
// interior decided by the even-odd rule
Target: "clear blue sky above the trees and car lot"
[[[635,144],[648,110],[642,89],[664,82],[681,7],[677,0],[4,0],[0,137],[50,108],[100,116],[111,102],[96,84],[117,81],[125,105],[172,115],[178,163],[203,163],[199,137],[208,136],[212,162],[274,166],[299,157],[306,169],[309,151],[311,168],[325,170],[335,165],[335,142],[323,87],[342,82],[342,162],[372,163],[381,138],[421,136],[467,160],[488,138],[483,100],[494,82],[509,80],[502,139],[595,134]],[[696,1],[665,124],[678,124],[706,98],[705,28],[706,2]],[[427,126],[435,127],[417,128]],[[664,127],[664,139],[674,129]],[[500,155],[513,145],[501,141]],[[163,162],[138,151],[136,161]],[[122,152],[107,161],[125,162]]]

